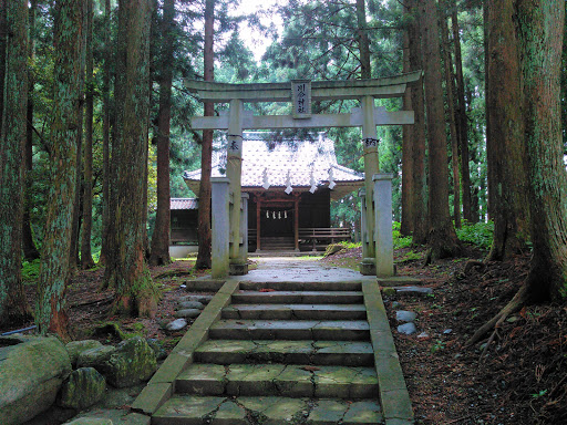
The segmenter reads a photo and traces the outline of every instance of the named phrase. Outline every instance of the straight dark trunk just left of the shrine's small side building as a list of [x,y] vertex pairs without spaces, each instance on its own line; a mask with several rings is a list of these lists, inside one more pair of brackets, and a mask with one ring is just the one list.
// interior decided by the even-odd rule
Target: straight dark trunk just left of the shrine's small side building
[[153,266],[169,259],[169,128],[172,120],[172,82],[175,37],[175,0],[164,1],[162,20],[162,75],[159,81],[159,116],[157,118],[157,212],[152,236]]

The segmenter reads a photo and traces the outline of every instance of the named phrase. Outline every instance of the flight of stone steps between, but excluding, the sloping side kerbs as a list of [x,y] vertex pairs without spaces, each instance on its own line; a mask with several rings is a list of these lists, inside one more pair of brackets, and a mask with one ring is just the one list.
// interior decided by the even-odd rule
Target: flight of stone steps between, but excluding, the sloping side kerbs
[[152,424],[384,424],[362,286],[328,283],[239,282]]

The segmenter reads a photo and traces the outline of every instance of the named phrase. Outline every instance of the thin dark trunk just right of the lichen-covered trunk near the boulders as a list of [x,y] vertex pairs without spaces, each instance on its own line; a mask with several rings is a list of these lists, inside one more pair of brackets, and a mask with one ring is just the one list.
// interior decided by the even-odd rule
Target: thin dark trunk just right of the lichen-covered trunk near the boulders
[[93,221],[93,115],[94,115],[94,76],[93,76],[93,1],[86,0],[86,122],[83,152],[83,231],[81,234],[81,268],[94,267],[91,253],[91,228]]

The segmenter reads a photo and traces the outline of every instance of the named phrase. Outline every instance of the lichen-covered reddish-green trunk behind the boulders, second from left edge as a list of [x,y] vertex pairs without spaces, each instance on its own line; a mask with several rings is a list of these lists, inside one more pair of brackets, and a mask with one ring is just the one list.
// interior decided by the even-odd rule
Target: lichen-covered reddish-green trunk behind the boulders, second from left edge
[[47,201],[35,322],[41,333],[68,335],[65,291],[76,185],[76,141],[84,70],[84,1],[58,0],[54,7],[52,175]]

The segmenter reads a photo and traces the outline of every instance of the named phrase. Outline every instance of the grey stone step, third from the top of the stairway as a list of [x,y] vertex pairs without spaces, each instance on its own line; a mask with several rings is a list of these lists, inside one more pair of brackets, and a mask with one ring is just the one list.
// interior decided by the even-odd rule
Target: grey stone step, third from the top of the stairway
[[223,319],[364,320],[363,304],[231,304]]

